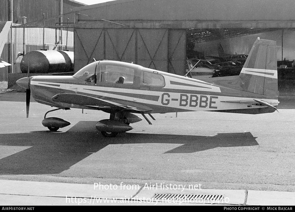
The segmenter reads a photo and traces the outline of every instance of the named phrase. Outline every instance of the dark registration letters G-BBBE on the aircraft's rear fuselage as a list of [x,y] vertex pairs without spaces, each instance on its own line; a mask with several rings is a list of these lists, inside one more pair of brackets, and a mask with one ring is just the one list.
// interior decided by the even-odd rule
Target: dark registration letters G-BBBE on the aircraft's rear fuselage
[[[169,93],[161,95],[161,104],[168,106],[171,102],[178,102],[180,107],[200,107],[217,109],[216,100],[218,96],[196,95],[196,94],[178,94],[178,98],[172,98]],[[173,95],[175,97],[175,95]]]

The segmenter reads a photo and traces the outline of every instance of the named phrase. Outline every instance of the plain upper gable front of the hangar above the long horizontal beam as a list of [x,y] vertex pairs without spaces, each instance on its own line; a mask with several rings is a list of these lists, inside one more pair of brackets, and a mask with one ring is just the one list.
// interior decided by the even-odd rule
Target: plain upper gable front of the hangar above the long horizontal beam
[[78,21],[294,22],[294,8],[294,0],[117,0],[76,11],[80,13]]

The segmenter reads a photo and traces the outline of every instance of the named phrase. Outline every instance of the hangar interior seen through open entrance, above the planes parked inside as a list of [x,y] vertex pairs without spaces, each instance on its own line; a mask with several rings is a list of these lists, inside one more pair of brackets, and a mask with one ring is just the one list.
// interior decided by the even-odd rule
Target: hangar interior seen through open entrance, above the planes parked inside
[[228,54],[248,54],[257,37],[277,42],[278,61],[295,59],[294,28],[190,29],[187,32],[187,43],[193,43],[194,50],[205,57],[218,56],[218,45],[222,45]]

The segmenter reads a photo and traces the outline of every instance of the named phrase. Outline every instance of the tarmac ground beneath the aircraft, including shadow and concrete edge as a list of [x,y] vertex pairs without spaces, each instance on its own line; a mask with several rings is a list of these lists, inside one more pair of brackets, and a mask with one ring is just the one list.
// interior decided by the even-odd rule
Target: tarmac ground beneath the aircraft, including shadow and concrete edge
[[158,114],[111,140],[95,129],[103,112],[53,112],[72,124],[51,133],[41,121],[52,108],[32,100],[26,119],[25,94],[1,92],[0,205],[293,206],[294,100],[257,116]]

